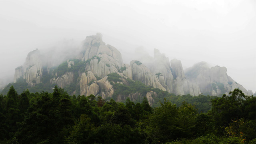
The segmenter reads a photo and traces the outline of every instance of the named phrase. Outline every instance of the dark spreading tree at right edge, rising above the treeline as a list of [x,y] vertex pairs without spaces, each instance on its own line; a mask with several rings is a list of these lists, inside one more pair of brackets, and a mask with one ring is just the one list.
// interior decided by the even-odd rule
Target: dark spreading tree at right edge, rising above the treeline
[[[245,96],[239,89],[234,89],[230,94],[231,96],[224,94],[222,98],[212,100],[210,114],[219,133],[223,132],[224,128],[235,119],[245,118],[248,120],[248,124],[250,124],[250,120],[255,122],[255,97]],[[246,132],[247,134],[255,133],[255,129],[248,129],[248,131],[250,132]],[[249,140],[254,138],[254,136],[249,137]]]

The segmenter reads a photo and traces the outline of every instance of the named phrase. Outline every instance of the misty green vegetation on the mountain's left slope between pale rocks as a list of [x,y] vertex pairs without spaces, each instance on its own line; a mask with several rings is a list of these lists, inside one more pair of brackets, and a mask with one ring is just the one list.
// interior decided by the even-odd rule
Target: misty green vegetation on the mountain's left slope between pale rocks
[[[86,61],[80,61],[77,59],[72,59],[70,61],[74,62],[74,65],[71,65],[70,68],[68,68],[67,62],[63,62],[58,67],[50,68],[50,71],[47,71],[47,68],[43,68],[42,74],[42,83],[35,84],[35,86],[30,87],[28,83],[26,83],[25,79],[19,78],[16,83],[14,84],[8,84],[3,90],[2,94],[7,94],[8,89],[10,86],[14,86],[15,90],[20,94],[24,89],[28,89],[30,92],[36,93],[41,92],[42,90],[47,92],[53,92],[53,88],[55,84],[50,84],[50,79],[57,78],[57,76],[62,76],[66,72],[73,72],[74,73],[74,82],[72,82],[69,86],[65,88],[65,90],[68,92],[68,94],[72,94],[74,91],[76,91],[76,95],[80,94],[80,84],[79,82],[79,73],[85,72],[85,66],[87,63],[90,63],[90,61],[94,58],[97,58],[98,61],[100,58],[98,56],[93,56],[92,58],[86,60]],[[97,80],[100,78],[97,77]]]

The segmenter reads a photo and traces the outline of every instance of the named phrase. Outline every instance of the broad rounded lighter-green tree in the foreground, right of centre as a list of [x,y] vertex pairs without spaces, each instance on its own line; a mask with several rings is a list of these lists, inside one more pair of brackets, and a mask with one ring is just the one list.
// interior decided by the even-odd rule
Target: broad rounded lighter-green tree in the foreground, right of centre
[[192,128],[196,118],[196,109],[184,103],[177,107],[165,101],[149,117],[149,125],[146,128],[147,142],[156,144],[159,141],[165,143],[177,138],[190,138],[193,136]]

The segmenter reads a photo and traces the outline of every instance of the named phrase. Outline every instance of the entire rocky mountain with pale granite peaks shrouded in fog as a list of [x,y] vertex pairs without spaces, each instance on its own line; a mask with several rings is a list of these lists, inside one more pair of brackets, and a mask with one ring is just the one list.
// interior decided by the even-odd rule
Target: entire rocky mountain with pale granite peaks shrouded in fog
[[[209,68],[206,62],[200,62],[184,72],[180,60],[169,61],[157,49],[146,65],[138,60],[124,64],[121,53],[113,46],[106,45],[102,41],[102,34],[97,33],[87,36],[81,44],[80,52],[60,65],[54,65],[53,60],[41,54],[38,49],[29,52],[25,63],[15,69],[14,85],[18,86],[22,82],[21,88],[32,91],[52,90],[54,85],[58,85],[69,94],[93,94],[117,101],[127,97],[136,101],[146,96],[150,104],[157,97],[154,88],[176,95],[192,96],[228,94],[235,88],[246,95],[252,94],[230,78],[226,71],[225,67]],[[132,81],[144,84],[143,88],[147,90],[139,92],[132,89]],[[117,94],[121,88],[124,90]]]

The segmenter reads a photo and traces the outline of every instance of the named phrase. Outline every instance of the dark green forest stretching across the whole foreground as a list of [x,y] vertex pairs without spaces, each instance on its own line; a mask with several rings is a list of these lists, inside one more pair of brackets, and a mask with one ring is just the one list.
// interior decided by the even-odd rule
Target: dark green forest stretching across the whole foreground
[[[254,144],[256,97],[239,89],[230,94],[212,99],[211,110],[200,113],[187,102],[164,100],[153,109],[145,97],[122,103],[70,96],[57,86],[52,93],[19,95],[11,86],[0,96],[0,144]],[[207,99],[169,100],[201,98]]]

